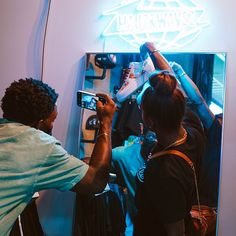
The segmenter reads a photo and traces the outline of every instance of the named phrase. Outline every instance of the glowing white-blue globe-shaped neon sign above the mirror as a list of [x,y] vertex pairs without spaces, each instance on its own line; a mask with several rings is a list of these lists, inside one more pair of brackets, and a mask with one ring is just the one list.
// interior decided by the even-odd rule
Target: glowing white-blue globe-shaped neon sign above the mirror
[[103,13],[110,17],[103,37],[120,37],[134,47],[155,42],[161,50],[192,42],[210,22],[190,0],[126,0]]

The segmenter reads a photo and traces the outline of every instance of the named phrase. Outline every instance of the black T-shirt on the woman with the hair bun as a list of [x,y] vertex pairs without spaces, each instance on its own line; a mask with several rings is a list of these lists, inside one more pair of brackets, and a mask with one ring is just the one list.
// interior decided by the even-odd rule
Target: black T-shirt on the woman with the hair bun
[[[187,132],[186,140],[166,150],[180,151],[198,163],[203,141],[201,123],[192,112],[187,112],[183,124]],[[157,144],[152,153],[161,151],[162,147]],[[139,214],[135,222],[135,235],[168,235],[163,224],[181,217],[186,227],[191,227],[189,212],[192,204],[196,203],[193,171],[180,157],[169,154],[148,161],[137,174],[137,189]]]

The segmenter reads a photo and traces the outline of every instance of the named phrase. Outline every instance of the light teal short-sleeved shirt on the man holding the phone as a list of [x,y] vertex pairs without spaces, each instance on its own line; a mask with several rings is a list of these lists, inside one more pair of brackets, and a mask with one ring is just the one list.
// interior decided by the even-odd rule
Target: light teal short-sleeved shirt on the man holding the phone
[[0,119],[0,235],[8,235],[35,192],[70,190],[88,165],[46,133]]

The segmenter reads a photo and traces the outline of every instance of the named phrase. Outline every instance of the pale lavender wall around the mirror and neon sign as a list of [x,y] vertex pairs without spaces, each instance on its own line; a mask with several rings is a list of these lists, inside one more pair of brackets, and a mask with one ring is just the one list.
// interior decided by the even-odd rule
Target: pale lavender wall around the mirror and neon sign
[[[40,78],[42,35],[48,3],[47,0],[1,0],[0,97],[6,86],[15,79]],[[119,40],[117,44],[109,44],[99,37],[104,27],[104,22],[100,21],[101,12],[117,3],[118,0],[51,2],[43,80],[55,87],[60,94],[59,116],[54,135],[74,155],[77,155],[79,133],[79,109],[76,106],[75,92],[82,83],[84,53],[136,50]],[[231,236],[236,232],[236,190],[233,187],[236,179],[236,160],[233,155],[236,140],[236,3],[233,0],[208,0],[201,1],[201,4],[208,11],[211,26],[180,51],[227,52],[218,235]],[[47,235],[70,235],[74,194],[49,191],[42,195],[39,207]],[[43,205],[48,207],[43,208]]]

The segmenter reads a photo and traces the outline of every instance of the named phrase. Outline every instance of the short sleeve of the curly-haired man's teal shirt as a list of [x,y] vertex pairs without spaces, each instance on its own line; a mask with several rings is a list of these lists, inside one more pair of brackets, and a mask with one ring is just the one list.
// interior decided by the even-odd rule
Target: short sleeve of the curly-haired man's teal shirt
[[44,164],[39,168],[35,191],[51,188],[70,190],[85,176],[88,168],[86,163],[69,155],[59,143],[54,143]]

